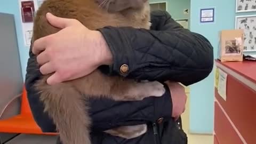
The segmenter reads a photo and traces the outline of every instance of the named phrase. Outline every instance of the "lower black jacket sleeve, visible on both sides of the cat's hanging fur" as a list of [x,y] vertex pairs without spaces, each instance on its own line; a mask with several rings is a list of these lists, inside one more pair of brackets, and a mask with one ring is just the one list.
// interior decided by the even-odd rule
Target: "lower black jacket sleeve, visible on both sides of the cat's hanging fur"
[[[55,132],[52,119],[44,112],[44,105],[34,84],[41,77],[36,57],[29,52],[26,74],[26,90],[29,105],[36,123],[43,132]],[[105,131],[121,125],[136,125],[155,122],[159,117],[171,117],[172,102],[166,86],[166,93],[161,98],[150,97],[142,101],[117,102],[108,99],[91,99],[89,104],[92,118],[92,131]]]

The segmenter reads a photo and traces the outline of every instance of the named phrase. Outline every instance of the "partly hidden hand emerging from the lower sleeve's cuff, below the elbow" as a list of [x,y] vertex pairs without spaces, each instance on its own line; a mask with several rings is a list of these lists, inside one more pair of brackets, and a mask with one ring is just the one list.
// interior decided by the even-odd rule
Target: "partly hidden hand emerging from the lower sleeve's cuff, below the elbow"
[[182,85],[177,82],[166,82],[172,97],[172,117],[177,121],[180,115],[185,111],[187,95]]

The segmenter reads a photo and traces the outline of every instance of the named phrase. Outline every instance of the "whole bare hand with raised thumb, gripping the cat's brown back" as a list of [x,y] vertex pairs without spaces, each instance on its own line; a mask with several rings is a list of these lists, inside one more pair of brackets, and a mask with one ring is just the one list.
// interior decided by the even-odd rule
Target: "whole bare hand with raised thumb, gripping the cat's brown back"
[[33,44],[33,53],[43,75],[52,85],[92,73],[100,65],[111,64],[111,52],[102,34],[89,30],[75,19],[55,17],[47,13],[49,23],[61,30],[39,38]]

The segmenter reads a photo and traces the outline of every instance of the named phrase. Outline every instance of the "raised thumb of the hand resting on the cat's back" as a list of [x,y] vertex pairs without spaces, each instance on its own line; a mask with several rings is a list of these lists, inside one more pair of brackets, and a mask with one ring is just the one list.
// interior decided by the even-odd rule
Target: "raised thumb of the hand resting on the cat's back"
[[46,19],[52,26],[61,29],[71,26],[74,23],[73,19],[56,17],[52,13],[46,13]]

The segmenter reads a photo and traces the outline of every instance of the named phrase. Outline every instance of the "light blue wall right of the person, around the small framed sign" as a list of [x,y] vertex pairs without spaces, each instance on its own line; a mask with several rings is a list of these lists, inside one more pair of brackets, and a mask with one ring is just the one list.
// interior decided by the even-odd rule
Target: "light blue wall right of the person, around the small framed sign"
[[[235,28],[235,16],[254,13],[235,13],[235,0],[191,0],[190,30],[204,35],[214,47],[214,57],[217,58],[218,33],[222,29]],[[199,9],[215,7],[215,22],[199,23]],[[255,53],[256,54],[256,53]],[[212,74],[204,81],[191,85],[190,88],[190,132],[213,132],[213,100],[214,76]]]

